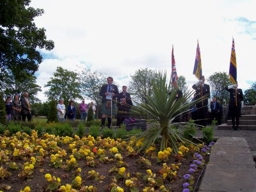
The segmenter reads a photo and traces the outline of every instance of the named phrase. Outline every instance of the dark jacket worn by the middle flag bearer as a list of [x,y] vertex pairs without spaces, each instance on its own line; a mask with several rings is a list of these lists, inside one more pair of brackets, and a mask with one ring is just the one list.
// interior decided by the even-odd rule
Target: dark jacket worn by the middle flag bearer
[[[209,84],[204,84],[204,86],[201,86],[201,84],[199,84],[198,86],[196,86],[196,84],[193,84],[192,88],[196,90],[195,100],[207,95],[207,98],[203,100],[203,106],[207,106],[208,98],[210,98],[211,95]],[[202,106],[202,102],[196,103],[197,108],[200,106]]]

